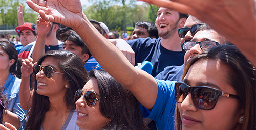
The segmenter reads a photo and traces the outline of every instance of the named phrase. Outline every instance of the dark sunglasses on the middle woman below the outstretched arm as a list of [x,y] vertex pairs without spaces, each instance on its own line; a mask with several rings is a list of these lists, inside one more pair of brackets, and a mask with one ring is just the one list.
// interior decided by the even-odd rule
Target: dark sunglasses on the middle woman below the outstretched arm
[[89,107],[93,107],[96,101],[99,100],[95,92],[92,92],[92,91],[83,92],[81,89],[78,89],[75,93],[75,103],[77,102],[78,99],[82,97],[83,94],[84,94],[84,100],[86,101]]

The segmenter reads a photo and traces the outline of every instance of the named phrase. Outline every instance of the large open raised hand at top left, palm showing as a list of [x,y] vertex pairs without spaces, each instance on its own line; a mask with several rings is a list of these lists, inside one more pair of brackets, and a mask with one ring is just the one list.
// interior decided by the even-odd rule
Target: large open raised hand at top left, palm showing
[[42,19],[78,29],[81,26],[82,12],[80,0],[27,0],[27,4],[38,12]]

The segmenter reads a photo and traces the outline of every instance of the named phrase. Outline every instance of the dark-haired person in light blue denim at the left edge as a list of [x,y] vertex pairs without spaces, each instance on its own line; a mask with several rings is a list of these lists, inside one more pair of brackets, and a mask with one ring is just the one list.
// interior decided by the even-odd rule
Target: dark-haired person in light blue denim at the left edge
[[26,111],[19,103],[20,79],[15,76],[17,62],[18,53],[15,47],[7,40],[0,40],[0,87],[1,94],[8,99],[8,102],[4,102],[8,106],[3,114],[3,120],[23,129]]

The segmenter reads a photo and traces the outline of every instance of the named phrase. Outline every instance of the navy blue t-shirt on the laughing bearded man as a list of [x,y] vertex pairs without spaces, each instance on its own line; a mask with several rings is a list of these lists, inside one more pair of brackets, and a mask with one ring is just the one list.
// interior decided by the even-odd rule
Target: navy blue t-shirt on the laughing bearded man
[[167,66],[182,65],[184,54],[182,51],[170,51],[161,45],[161,39],[138,38],[126,41],[135,52],[135,65],[149,61],[153,65],[151,75],[155,77]]

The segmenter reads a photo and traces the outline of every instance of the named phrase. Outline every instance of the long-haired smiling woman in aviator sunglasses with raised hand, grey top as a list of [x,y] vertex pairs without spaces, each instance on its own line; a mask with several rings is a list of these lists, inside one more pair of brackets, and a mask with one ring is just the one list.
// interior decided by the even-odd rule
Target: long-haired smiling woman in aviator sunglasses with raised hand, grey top
[[[30,94],[29,75],[32,72],[34,89]],[[87,80],[83,62],[69,51],[48,51],[33,66],[31,59],[25,59],[22,82],[27,85],[22,86],[20,94],[31,95],[25,129],[79,129],[74,94]],[[24,89],[26,91],[22,91]]]

